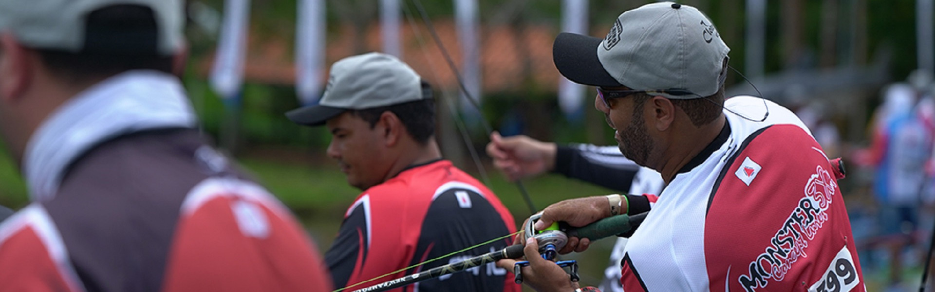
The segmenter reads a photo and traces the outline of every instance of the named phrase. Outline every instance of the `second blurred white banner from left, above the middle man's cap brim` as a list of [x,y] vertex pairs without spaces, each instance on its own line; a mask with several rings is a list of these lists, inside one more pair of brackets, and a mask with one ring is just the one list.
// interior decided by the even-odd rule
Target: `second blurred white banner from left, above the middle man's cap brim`
[[299,0],[295,22],[295,94],[303,106],[322,95],[324,77],[324,0]]

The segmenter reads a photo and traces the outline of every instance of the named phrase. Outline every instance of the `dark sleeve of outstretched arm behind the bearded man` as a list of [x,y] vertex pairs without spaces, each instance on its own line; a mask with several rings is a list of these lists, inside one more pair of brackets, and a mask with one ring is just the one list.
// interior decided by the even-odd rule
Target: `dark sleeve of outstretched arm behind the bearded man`
[[608,157],[607,161],[597,162],[585,157],[582,148],[559,145],[555,152],[553,171],[568,178],[594,183],[619,192],[628,192],[639,167],[632,162],[630,162],[631,165],[616,163],[626,159],[623,154],[606,155],[606,157]]

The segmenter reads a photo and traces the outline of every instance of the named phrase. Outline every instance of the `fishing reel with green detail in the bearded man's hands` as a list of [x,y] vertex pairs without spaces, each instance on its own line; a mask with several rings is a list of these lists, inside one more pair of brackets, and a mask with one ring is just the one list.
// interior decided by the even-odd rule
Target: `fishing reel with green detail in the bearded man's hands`
[[[546,260],[554,261],[555,257],[558,256],[558,251],[565,247],[565,244],[568,244],[568,235],[559,229],[557,222],[543,230],[536,230],[536,222],[539,222],[539,218],[541,217],[542,213],[539,212],[530,216],[529,220],[526,220],[525,226],[523,226],[523,236],[526,241],[535,238],[536,241],[539,242],[539,255]],[[568,273],[571,282],[578,282],[580,277],[578,276],[577,261],[563,260],[557,261],[555,264]],[[516,284],[523,284],[522,268],[526,266],[529,266],[528,261],[519,261],[513,265],[513,274],[516,275],[514,281]]]

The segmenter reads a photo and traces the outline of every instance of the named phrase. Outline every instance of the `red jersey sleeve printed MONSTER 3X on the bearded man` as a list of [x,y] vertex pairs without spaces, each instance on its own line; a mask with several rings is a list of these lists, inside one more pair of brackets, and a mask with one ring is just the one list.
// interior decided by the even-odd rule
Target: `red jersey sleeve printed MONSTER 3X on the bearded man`
[[865,290],[841,188],[801,128],[756,132],[717,182],[704,225],[712,291]]

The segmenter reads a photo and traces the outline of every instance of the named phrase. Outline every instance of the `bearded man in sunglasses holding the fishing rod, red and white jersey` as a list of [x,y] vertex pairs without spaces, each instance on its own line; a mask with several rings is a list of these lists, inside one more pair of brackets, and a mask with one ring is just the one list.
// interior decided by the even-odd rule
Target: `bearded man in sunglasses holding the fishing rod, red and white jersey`
[[[543,211],[537,229],[649,209],[620,262],[627,292],[865,290],[841,169],[790,110],[752,96],[724,98],[729,49],[697,8],[638,7],[605,38],[563,33],[553,50],[562,75],[597,87],[595,107],[616,130],[621,153],[659,171],[666,186],[652,206],[565,200]],[[535,240],[525,243],[524,283],[538,291],[578,287],[539,257]],[[589,243],[569,239],[562,252]]]

